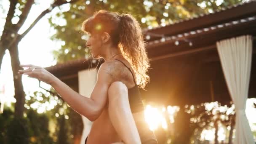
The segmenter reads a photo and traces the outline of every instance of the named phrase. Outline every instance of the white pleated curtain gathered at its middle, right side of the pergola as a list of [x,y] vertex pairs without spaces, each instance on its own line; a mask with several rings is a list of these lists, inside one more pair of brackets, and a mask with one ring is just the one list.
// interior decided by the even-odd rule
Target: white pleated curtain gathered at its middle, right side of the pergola
[[216,43],[229,93],[235,104],[235,144],[254,144],[245,115],[252,59],[252,37],[244,35]]

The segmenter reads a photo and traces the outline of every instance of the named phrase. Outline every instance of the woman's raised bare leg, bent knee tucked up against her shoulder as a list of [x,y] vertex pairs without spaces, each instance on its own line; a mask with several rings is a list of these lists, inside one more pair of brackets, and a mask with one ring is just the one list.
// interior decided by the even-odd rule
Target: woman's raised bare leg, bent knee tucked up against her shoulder
[[109,118],[118,135],[124,143],[141,144],[139,132],[136,127],[128,99],[128,88],[122,82],[114,82],[109,90]]

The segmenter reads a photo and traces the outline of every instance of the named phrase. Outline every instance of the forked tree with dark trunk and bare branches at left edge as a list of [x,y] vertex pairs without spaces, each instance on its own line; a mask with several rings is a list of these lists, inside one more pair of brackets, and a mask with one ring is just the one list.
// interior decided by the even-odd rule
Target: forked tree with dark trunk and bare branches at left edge
[[[27,19],[27,15],[33,4],[36,4],[34,0],[10,0],[10,7],[8,9],[7,16],[5,18],[5,24],[3,27],[2,35],[0,35],[0,68],[5,54],[5,50],[8,50],[11,55],[11,67],[13,70],[13,81],[15,87],[15,117],[23,117],[24,112],[24,91],[21,83],[21,75],[17,72],[21,67],[19,61],[18,44],[21,39],[27,35],[27,33],[37,24],[37,22],[45,16],[46,13],[51,12],[53,8],[56,8],[65,3],[75,3],[77,0],[54,0],[53,4],[40,13],[39,16],[32,22],[32,24],[22,33],[18,34],[19,29],[23,26],[24,21]],[[3,8],[3,7],[2,7]],[[3,9],[2,9],[3,10]],[[5,10],[5,9],[4,9]],[[16,14],[15,11],[20,11],[20,14]],[[19,19],[17,23],[13,23],[12,19],[16,17]]]

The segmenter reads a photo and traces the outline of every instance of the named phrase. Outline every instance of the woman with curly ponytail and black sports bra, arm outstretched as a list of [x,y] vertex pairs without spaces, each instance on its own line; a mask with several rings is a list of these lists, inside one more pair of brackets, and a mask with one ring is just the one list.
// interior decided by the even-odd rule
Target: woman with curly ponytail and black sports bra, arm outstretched
[[86,46],[92,57],[104,59],[90,99],[41,67],[21,65],[29,69],[19,73],[52,85],[72,109],[94,121],[85,144],[156,144],[144,120],[138,88],[149,81],[149,60],[138,21],[130,14],[101,10],[83,22],[82,30],[90,36]]

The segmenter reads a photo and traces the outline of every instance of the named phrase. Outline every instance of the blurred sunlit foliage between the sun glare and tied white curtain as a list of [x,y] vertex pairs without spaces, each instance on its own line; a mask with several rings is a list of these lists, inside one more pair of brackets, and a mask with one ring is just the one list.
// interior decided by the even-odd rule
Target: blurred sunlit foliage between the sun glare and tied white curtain
[[185,112],[190,117],[189,129],[193,131],[192,141],[200,139],[204,129],[216,128],[220,123],[224,127],[234,127],[235,125],[235,105],[221,106],[217,101],[211,103],[202,103],[201,105],[185,106]]

